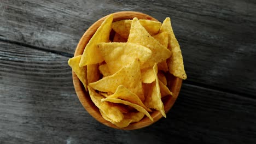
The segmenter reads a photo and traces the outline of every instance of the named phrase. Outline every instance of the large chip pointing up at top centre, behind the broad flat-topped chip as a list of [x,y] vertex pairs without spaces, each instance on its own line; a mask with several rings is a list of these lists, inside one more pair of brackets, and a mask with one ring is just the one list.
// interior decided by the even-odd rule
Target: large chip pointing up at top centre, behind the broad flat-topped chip
[[147,61],[148,67],[152,67],[155,63],[165,61],[171,56],[170,50],[166,49],[158,40],[154,39],[141,23],[139,23],[136,17],[132,20],[130,35],[127,41],[129,43],[143,45],[152,50],[152,58]]

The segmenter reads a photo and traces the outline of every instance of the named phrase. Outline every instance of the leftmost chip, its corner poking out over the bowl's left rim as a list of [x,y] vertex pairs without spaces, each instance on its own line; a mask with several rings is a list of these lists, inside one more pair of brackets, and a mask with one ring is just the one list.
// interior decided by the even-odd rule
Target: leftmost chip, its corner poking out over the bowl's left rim
[[68,59],[68,65],[74,70],[75,74],[77,75],[78,79],[83,83],[85,91],[87,90],[87,76],[86,76],[86,66],[79,67],[79,62],[82,55],[72,57]]

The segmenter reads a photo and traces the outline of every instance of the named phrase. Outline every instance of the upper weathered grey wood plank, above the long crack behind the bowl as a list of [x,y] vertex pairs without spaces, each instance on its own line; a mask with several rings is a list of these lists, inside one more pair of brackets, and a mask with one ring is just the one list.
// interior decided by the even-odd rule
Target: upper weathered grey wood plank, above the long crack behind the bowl
[[121,10],[170,16],[180,41],[185,83],[254,97],[256,4],[253,1],[0,1],[0,39],[72,55],[100,17]]

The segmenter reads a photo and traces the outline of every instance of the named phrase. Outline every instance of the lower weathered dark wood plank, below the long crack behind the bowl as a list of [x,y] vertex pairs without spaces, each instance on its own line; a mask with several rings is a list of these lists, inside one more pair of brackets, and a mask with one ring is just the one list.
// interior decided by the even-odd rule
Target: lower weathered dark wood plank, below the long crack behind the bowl
[[167,118],[121,131],[75,95],[67,57],[0,42],[0,143],[255,143],[256,100],[183,84]]

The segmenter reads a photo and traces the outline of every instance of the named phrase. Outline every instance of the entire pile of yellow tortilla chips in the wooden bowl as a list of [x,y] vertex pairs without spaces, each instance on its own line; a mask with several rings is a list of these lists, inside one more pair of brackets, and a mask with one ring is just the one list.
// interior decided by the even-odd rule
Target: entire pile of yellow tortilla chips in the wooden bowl
[[[110,31],[114,37],[110,38]],[[104,119],[127,127],[153,110],[166,117],[162,97],[171,97],[165,73],[187,79],[170,18],[163,23],[113,22],[109,15],[86,45],[68,61]]]

